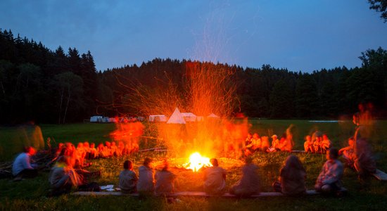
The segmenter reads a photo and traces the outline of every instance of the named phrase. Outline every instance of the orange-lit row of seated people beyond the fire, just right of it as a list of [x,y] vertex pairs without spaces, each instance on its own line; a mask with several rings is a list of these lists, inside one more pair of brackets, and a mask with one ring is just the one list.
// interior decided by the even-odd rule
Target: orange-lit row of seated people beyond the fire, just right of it
[[258,133],[247,135],[244,143],[244,155],[248,156],[254,152],[261,151],[272,153],[276,151],[288,151],[291,152],[293,148],[293,139],[289,139],[288,135],[283,134],[281,139],[278,139],[276,134],[272,135],[272,144],[269,143],[267,136],[262,136]]

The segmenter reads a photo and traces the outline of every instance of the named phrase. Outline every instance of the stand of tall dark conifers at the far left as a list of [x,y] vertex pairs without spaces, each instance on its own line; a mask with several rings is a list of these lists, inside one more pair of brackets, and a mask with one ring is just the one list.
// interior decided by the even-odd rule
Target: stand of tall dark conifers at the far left
[[11,30],[0,32],[1,123],[80,121],[95,113],[97,81],[90,52],[51,51]]

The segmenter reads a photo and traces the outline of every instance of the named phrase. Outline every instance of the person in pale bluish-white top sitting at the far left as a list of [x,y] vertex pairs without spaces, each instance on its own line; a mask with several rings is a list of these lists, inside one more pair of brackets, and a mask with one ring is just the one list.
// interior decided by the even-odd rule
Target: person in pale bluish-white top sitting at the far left
[[23,178],[34,178],[37,177],[38,171],[35,169],[34,164],[31,164],[31,157],[35,155],[37,151],[32,146],[24,148],[24,152],[20,153],[15,158],[12,164],[12,174],[15,179],[14,181],[20,181]]

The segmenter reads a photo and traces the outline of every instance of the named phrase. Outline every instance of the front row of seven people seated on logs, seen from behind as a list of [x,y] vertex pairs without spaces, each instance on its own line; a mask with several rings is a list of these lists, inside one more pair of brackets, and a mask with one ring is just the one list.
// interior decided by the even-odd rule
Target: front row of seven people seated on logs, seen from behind
[[[341,191],[343,165],[338,158],[335,148],[326,152],[326,159],[322,170],[317,177],[315,189],[322,193],[337,193]],[[258,167],[253,164],[251,157],[245,158],[246,164],[242,167],[242,177],[229,188],[229,193],[235,196],[252,196],[260,193],[260,178]],[[163,162],[163,169],[154,174],[151,158],[145,158],[144,165],[139,167],[139,176],[133,170],[130,160],[124,162],[124,170],[120,172],[119,187],[123,193],[156,194],[168,196],[174,193],[176,175],[168,170],[168,162]],[[216,158],[210,160],[212,167],[203,172],[203,190],[210,195],[222,195],[227,192],[227,172]],[[156,182],[155,182],[156,179]],[[306,172],[296,155],[289,155],[281,168],[279,179],[274,181],[274,191],[288,196],[301,196],[306,193]]]

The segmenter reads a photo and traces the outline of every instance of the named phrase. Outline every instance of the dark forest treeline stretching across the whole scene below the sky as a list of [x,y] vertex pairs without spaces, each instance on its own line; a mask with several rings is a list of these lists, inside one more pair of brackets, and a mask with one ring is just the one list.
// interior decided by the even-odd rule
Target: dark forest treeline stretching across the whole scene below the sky
[[[312,73],[270,65],[199,65],[228,70],[238,99],[234,113],[248,117],[337,118],[354,113],[358,103],[366,102],[383,115],[387,51],[367,50],[360,60],[361,68],[343,66]],[[90,52],[80,55],[74,48],[65,53],[61,46],[51,51],[40,42],[15,38],[5,30],[0,32],[0,121],[63,123],[82,121],[96,113],[148,115],[141,113],[137,96],[173,90],[184,98],[192,63],[156,58],[139,66],[97,72]]]

